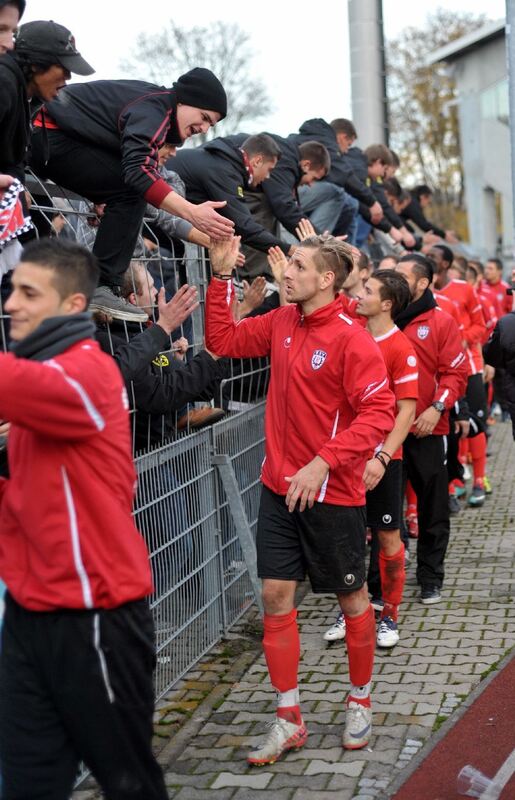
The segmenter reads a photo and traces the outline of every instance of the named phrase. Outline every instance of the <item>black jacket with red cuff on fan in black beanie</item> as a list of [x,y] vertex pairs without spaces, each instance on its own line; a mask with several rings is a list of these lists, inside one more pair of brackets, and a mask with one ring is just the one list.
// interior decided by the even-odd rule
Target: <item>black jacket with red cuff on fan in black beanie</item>
[[175,129],[173,89],[145,81],[76,83],[46,109],[71,137],[119,153],[128,186],[161,205],[170,187],[158,172],[157,151]]

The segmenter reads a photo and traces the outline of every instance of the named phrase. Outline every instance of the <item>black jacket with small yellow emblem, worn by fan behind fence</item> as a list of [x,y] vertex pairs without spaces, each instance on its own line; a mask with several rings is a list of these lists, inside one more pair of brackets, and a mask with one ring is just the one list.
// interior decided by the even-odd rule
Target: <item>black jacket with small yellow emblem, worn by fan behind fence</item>
[[122,330],[114,323],[110,331],[98,328],[96,338],[120,368],[137,412],[135,449],[141,450],[173,436],[175,412],[188,402],[202,399],[206,391],[209,393],[210,387],[225,377],[227,361],[216,361],[202,350],[181,364],[170,353],[170,337],[159,325],[144,331],[137,324],[127,325],[129,341]]

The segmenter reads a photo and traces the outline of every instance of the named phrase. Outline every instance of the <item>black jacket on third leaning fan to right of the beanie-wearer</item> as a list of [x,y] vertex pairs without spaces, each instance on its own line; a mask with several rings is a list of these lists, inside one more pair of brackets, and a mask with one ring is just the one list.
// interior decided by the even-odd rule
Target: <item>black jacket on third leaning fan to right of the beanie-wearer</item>
[[331,156],[331,170],[325,180],[341,186],[346,192],[351,194],[360,203],[370,207],[375,203],[375,197],[365,181],[359,177],[351,159],[346,158],[345,154],[340,153],[336,134],[324,119],[308,119],[303,122],[296,135],[297,142],[320,142],[327,147]]

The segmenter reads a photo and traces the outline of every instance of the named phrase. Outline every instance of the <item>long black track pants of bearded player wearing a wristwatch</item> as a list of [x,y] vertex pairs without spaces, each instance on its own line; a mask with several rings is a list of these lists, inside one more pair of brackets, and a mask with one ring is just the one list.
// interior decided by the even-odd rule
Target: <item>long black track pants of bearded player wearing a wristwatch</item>
[[417,581],[439,588],[450,533],[446,438],[417,439],[410,433],[402,446],[408,479],[417,495]]

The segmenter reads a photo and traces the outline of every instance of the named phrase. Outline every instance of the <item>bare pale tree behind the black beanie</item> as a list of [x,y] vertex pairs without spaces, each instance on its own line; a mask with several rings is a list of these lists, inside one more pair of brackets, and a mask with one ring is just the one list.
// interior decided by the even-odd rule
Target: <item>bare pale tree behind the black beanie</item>
[[217,124],[214,135],[235,133],[242,123],[248,126],[271,110],[263,82],[250,77],[249,41],[249,34],[236,24],[219,21],[181,28],[170,20],[159,33],[141,33],[134,53],[121,67],[130,76],[164,86],[193,67],[207,67],[221,80],[228,98],[227,118]]

